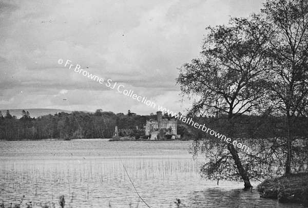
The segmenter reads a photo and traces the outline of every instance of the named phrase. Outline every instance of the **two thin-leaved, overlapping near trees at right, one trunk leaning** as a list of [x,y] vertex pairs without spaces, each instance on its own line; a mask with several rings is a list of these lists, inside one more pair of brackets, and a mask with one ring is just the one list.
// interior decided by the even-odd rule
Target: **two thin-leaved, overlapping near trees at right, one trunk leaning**
[[[215,138],[196,140],[192,153],[207,157],[203,176],[251,188],[251,179],[308,171],[307,45],[306,0],[267,0],[260,14],[207,28],[200,57],[180,68],[177,83],[194,100],[192,114],[224,115],[216,127],[254,147],[242,153]],[[260,120],[242,125],[243,116]]]

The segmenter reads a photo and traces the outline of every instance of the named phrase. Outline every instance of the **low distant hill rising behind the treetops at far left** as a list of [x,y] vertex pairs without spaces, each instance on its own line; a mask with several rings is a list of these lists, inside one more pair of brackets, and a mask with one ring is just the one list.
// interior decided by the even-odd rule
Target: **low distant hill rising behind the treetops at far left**
[[1,110],[2,115],[5,116],[6,115],[6,111],[9,110],[10,114],[12,116],[16,116],[17,119],[20,119],[22,117],[22,111],[29,111],[30,113],[30,117],[33,118],[37,118],[39,116],[44,116],[44,115],[54,115],[57,114],[59,112],[67,112],[68,114],[71,113],[71,111],[69,110],[60,110],[60,109],[48,109],[48,108],[25,108],[25,109],[4,109]]

